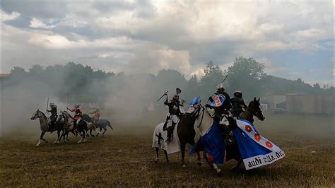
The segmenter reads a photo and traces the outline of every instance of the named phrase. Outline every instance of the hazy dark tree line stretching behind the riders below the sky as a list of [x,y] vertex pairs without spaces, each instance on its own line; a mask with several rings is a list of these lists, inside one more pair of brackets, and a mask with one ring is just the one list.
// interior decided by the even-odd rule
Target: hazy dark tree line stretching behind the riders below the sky
[[207,99],[225,76],[228,76],[225,86],[230,96],[235,90],[241,90],[245,100],[287,93],[334,93],[334,87],[321,87],[319,84],[310,86],[300,78],[294,81],[278,78],[265,74],[264,69],[264,64],[252,57],[237,57],[233,65],[225,70],[209,61],[204,67],[204,76],[198,78],[194,74],[187,79],[180,71],[171,69],[160,70],[156,76],[126,75],[123,72],[94,71],[90,66],[69,62],[64,66],[57,64],[45,69],[34,65],[28,71],[14,67],[8,77],[1,78],[1,84],[6,90],[38,83],[40,87],[52,90],[57,98],[69,98],[72,102],[104,102],[113,95],[139,97],[143,102],[154,102],[164,90],[169,90],[172,95],[176,87],[182,89],[182,98],[188,101],[197,95]]

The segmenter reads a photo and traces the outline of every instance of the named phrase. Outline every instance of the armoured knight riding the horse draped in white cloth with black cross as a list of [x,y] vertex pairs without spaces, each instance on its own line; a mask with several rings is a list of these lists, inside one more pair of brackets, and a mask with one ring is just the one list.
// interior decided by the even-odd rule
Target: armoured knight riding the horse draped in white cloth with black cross
[[173,136],[173,130],[175,129],[175,125],[180,119],[180,115],[182,112],[180,112],[180,107],[182,106],[179,101],[179,94],[182,92],[179,88],[176,89],[177,93],[173,96],[172,100],[166,100],[164,102],[164,105],[167,105],[169,107],[169,112],[166,115],[166,121],[163,127],[164,131],[167,131],[167,139],[166,142],[170,143],[172,141]]

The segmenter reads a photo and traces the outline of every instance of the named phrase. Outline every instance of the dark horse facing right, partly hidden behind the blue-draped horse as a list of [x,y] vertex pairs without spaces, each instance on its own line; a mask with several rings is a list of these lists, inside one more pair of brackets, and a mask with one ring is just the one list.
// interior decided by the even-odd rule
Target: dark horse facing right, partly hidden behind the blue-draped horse
[[[249,102],[249,105],[247,109],[245,110],[245,112],[242,112],[240,116],[237,117],[237,119],[245,119],[248,122],[254,124],[254,116],[255,116],[260,121],[264,121],[265,116],[263,112],[261,111],[261,104],[259,103],[259,101],[260,99],[256,100],[256,98],[254,98],[254,100]],[[239,129],[239,128],[236,127],[234,129]],[[230,146],[226,146],[226,151],[227,151],[226,160],[227,161],[230,159],[237,160],[237,165],[235,165],[233,169],[239,168],[240,165],[242,164],[242,158],[240,156],[240,151],[238,151],[237,143],[234,143],[233,145],[230,145]]]

